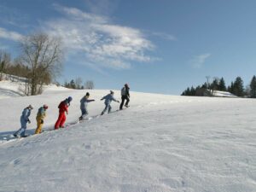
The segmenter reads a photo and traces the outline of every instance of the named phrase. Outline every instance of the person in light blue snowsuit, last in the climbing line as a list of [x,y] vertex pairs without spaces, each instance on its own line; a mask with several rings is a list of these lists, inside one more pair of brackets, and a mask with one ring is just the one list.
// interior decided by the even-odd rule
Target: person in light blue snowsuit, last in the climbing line
[[26,137],[25,131],[26,131],[26,123],[31,123],[29,116],[31,114],[32,105],[29,105],[28,107],[24,108],[21,116],[20,116],[20,124],[21,128],[15,132],[14,137]]

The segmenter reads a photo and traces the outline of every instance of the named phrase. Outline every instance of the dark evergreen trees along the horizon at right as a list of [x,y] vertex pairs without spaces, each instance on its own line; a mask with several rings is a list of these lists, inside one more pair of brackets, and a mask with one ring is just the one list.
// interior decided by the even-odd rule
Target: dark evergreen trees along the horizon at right
[[[254,75],[250,84],[244,86],[241,77],[237,77],[229,86],[225,85],[224,78],[214,78],[211,83],[205,82],[197,87],[191,86],[183,91],[181,96],[212,96],[214,90],[228,91],[235,96],[256,98],[256,76]],[[210,94],[205,94],[208,91]]]

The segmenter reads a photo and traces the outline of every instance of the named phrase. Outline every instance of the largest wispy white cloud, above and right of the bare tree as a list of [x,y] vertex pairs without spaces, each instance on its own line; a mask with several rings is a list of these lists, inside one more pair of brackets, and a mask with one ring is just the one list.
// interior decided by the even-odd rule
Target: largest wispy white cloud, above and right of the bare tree
[[44,31],[61,37],[68,52],[79,55],[84,64],[125,69],[132,61],[154,61],[147,55],[154,44],[140,30],[114,25],[108,17],[80,9],[54,6],[63,17],[44,22]]

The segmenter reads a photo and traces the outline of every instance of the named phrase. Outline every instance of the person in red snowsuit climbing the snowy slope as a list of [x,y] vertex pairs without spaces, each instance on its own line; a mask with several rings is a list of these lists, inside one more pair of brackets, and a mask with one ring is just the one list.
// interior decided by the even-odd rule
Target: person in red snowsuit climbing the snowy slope
[[68,96],[67,99],[65,99],[64,101],[62,101],[60,103],[60,105],[58,106],[59,108],[59,118],[57,119],[56,123],[55,123],[55,130],[61,128],[64,128],[64,124],[66,121],[66,115],[65,112],[68,114],[68,107],[70,106],[70,102],[72,101],[72,97]]

